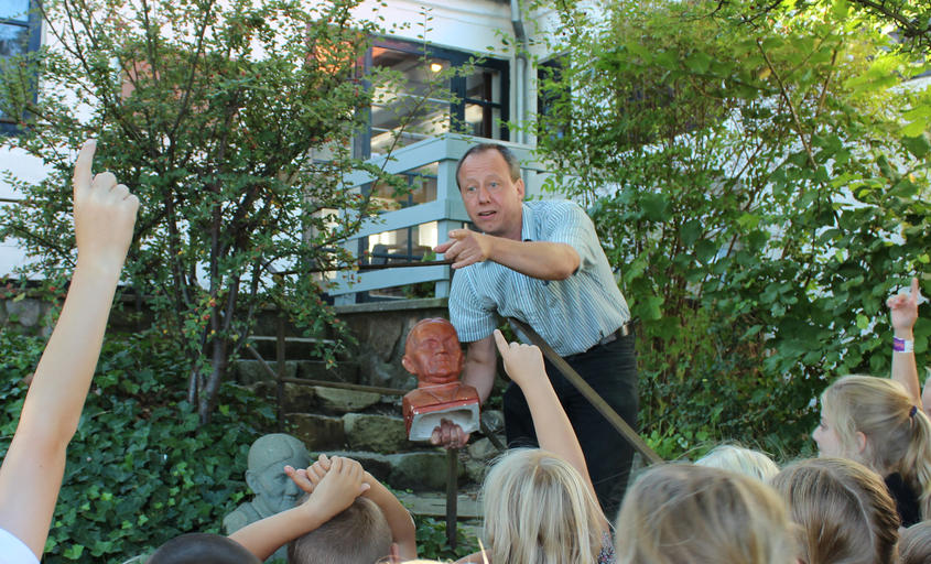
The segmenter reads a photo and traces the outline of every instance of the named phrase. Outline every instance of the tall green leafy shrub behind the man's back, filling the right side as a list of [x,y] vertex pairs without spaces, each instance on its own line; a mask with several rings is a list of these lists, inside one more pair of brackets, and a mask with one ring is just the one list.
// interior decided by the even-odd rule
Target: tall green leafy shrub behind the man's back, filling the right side
[[561,3],[534,133],[642,321],[645,430],[798,451],[829,378],[888,373],[886,296],[929,288],[927,67],[843,1],[603,10]]

